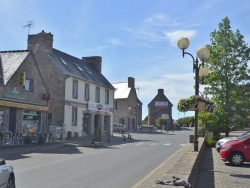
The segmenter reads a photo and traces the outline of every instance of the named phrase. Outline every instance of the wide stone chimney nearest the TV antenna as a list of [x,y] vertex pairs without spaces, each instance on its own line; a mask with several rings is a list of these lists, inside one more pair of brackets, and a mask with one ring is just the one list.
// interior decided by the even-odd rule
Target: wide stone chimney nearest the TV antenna
[[45,33],[42,30],[41,33],[28,35],[28,50],[36,51],[37,48],[43,48],[43,51],[51,53],[53,49],[53,35],[51,33]]

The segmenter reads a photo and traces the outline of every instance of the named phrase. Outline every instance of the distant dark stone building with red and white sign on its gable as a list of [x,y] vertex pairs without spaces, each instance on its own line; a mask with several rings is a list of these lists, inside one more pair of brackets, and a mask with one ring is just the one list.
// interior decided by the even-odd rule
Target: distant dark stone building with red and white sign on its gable
[[167,126],[172,126],[172,107],[173,104],[165,96],[164,89],[158,89],[157,95],[148,104],[148,125],[156,125],[156,119],[163,117],[169,119]]

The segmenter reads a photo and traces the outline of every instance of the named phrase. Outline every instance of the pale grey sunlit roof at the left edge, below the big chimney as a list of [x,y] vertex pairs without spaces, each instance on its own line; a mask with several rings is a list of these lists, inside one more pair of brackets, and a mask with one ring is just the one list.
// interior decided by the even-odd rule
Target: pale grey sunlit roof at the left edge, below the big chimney
[[1,84],[6,85],[8,83],[29,53],[30,51],[28,50],[0,51],[1,74],[3,74],[3,82]]

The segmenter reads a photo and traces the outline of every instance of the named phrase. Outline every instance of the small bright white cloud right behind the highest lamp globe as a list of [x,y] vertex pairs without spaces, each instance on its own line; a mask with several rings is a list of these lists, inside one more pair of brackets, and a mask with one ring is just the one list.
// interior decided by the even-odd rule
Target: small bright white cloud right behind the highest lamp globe
[[176,46],[177,41],[181,37],[187,37],[187,38],[192,38],[197,34],[196,30],[176,30],[172,32],[163,32],[164,35],[169,39],[170,43],[173,46]]

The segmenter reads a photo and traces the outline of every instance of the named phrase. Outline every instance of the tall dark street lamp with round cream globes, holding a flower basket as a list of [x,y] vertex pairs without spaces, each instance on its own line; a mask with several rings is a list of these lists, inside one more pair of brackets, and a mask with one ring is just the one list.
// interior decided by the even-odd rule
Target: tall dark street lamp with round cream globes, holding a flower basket
[[[177,45],[180,49],[182,49],[182,56],[184,58],[184,55],[187,54],[192,57],[193,59],[193,72],[195,72],[195,95],[199,95],[199,77],[205,77],[208,75],[208,67],[204,65],[204,61],[209,57],[210,51],[208,48],[200,47],[196,54],[197,57],[194,59],[194,57],[188,53],[185,52],[185,49],[189,47],[189,40],[188,38],[180,38],[177,41]],[[198,58],[202,61],[201,64],[199,64]],[[198,134],[197,134],[197,127],[198,127],[198,104],[195,105],[195,130],[194,130],[194,151],[198,151]]]

